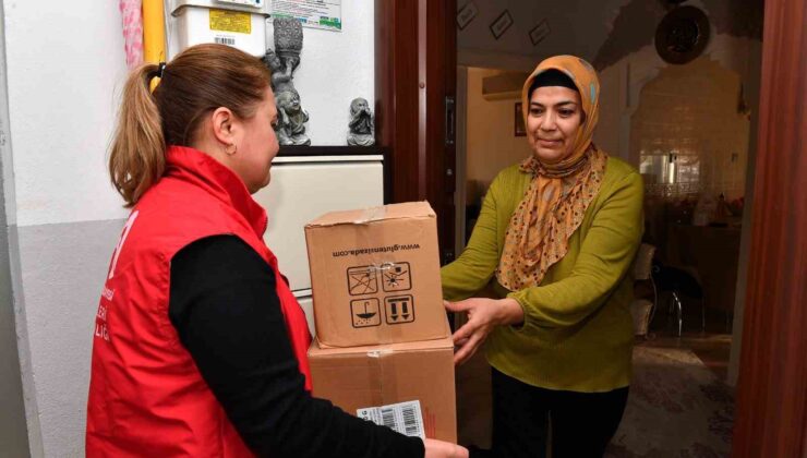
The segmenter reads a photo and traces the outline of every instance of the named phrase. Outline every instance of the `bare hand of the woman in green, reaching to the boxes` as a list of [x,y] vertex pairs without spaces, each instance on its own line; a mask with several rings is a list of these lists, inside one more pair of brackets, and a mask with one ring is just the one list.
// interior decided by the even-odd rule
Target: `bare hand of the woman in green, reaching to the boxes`
[[485,341],[494,327],[523,322],[523,310],[515,299],[471,298],[459,302],[443,301],[449,312],[466,312],[468,323],[454,333],[458,347],[454,363],[468,361]]

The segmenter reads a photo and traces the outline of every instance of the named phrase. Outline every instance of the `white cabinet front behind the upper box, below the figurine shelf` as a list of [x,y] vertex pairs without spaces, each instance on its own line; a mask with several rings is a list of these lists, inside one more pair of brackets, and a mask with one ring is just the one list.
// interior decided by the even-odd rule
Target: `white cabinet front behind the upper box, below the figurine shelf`
[[305,224],[333,210],[384,204],[383,156],[278,157],[268,186],[255,193],[269,225],[264,240],[292,291],[311,289]]

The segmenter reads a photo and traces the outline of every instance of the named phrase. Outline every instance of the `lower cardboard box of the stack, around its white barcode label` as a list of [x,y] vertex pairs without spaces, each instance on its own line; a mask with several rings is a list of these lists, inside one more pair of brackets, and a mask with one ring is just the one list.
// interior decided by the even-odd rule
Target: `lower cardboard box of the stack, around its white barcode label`
[[313,395],[352,415],[359,409],[420,401],[425,436],[457,442],[454,342],[309,349]]

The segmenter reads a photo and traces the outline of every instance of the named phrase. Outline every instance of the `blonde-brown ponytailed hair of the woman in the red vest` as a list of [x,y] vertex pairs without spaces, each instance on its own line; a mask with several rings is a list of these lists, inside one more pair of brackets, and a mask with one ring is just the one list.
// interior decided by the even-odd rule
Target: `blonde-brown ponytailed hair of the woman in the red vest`
[[166,147],[189,146],[204,116],[227,107],[254,116],[270,74],[258,58],[224,45],[188,48],[165,65],[144,63],[127,80],[109,154],[109,178],[131,207],[162,177]]

